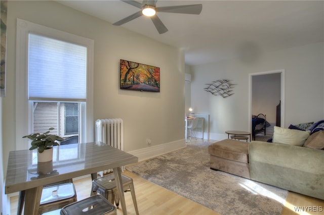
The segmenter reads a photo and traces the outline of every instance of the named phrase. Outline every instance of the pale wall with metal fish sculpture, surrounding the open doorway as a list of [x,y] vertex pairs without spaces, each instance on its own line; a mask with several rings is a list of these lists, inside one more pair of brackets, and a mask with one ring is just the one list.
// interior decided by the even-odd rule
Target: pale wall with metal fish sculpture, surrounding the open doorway
[[[226,130],[251,130],[249,74],[285,70],[285,127],[324,118],[323,43],[263,53],[254,63],[239,60],[192,66],[191,105],[195,112],[210,114],[211,138],[227,138]],[[234,95],[213,96],[203,90],[212,80],[228,79]]]

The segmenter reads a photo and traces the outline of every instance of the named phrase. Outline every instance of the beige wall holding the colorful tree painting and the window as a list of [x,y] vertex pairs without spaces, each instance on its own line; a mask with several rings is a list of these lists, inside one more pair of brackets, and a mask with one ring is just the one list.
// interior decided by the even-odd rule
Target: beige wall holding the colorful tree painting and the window
[[[9,1],[7,96],[3,99],[3,154],[15,148],[16,19],[94,40],[94,119],[124,120],[124,149],[184,143],[184,53],[123,27],[51,1]],[[160,68],[160,92],[119,89],[119,59]],[[71,80],[73,81],[73,80]],[[94,129],[94,128],[89,128]],[[151,146],[146,138],[152,140]]]

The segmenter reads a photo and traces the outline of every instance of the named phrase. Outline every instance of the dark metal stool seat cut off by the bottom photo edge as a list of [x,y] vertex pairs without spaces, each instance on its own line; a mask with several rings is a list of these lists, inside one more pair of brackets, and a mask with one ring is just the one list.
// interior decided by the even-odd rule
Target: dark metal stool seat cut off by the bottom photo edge
[[115,206],[101,195],[94,195],[68,204],[61,209],[61,215],[99,215],[117,214]]

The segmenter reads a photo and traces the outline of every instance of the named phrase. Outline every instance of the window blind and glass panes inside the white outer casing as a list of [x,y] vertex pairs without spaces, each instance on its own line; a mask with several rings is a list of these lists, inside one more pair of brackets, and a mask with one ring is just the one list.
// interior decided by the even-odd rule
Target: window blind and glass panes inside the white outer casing
[[86,99],[87,47],[30,33],[28,100],[34,106],[34,132],[54,127],[66,138],[62,144],[77,143]]

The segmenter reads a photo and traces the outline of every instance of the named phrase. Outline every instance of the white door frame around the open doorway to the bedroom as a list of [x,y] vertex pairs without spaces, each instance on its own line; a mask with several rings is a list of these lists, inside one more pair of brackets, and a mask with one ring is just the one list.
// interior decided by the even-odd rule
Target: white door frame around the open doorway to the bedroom
[[268,75],[273,73],[280,73],[280,127],[285,127],[285,69],[266,71],[266,72],[258,72],[258,73],[250,73],[249,74],[249,107],[248,107],[248,126],[250,132],[252,132],[252,77],[256,75]]

